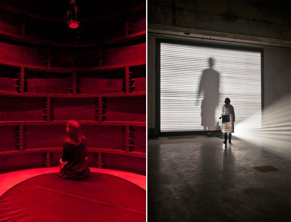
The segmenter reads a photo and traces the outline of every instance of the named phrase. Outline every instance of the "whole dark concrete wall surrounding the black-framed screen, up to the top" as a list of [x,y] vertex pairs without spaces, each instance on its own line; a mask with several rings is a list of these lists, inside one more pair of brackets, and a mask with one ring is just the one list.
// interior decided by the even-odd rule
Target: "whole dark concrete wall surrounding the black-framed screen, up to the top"
[[148,1],[148,32],[148,129],[156,126],[156,38],[263,48],[265,107],[290,95],[290,1]]

